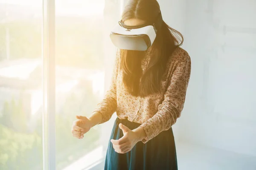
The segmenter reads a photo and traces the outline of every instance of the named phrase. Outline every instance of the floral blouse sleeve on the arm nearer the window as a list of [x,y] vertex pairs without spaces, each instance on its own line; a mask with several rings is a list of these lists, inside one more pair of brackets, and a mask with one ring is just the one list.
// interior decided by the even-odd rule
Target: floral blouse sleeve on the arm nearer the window
[[120,51],[116,52],[116,60],[112,74],[111,85],[106,92],[104,99],[97,105],[93,112],[99,112],[102,114],[102,121],[99,124],[107,122],[113,113],[116,111],[116,77],[119,70]]

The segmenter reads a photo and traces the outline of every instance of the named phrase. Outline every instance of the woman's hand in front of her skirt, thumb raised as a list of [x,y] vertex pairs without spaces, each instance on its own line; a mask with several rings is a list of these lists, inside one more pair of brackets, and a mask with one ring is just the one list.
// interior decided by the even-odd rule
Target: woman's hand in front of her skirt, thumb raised
[[119,127],[123,131],[124,136],[118,140],[111,139],[110,141],[117,153],[127,153],[141,140],[140,130],[130,130],[125,125],[122,125],[122,123],[119,124]]

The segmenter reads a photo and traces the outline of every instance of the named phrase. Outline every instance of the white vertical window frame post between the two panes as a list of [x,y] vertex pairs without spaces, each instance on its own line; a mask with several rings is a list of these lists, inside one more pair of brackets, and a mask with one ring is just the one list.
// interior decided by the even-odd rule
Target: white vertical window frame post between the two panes
[[55,170],[55,0],[43,0],[43,169]]

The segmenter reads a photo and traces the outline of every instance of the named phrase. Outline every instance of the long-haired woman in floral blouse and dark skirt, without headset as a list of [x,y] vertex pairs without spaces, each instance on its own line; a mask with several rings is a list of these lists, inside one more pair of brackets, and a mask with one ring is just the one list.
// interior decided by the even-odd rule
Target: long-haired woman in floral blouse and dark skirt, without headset
[[[122,22],[138,26],[159,14],[156,0],[130,0]],[[105,98],[89,118],[77,116],[72,133],[82,139],[116,111],[105,170],[177,170],[172,125],[183,109],[191,70],[182,42],[182,35],[161,21],[146,51],[119,50]]]

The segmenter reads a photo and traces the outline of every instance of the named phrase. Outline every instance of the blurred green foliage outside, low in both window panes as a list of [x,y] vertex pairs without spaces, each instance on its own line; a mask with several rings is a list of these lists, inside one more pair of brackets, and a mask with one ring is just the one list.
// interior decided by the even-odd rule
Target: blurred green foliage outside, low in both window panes
[[[82,140],[74,138],[71,133],[75,116],[88,116],[88,111],[92,111],[97,102],[99,101],[93,96],[90,86],[76,88],[67,97],[61,111],[56,113],[57,169],[66,167],[99,145],[99,128],[91,129]],[[4,103],[0,115],[0,170],[41,170],[41,116],[36,128],[27,130],[29,116],[24,112],[22,101],[15,101],[14,98]]]

